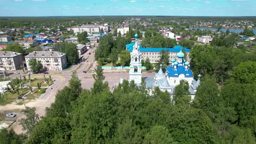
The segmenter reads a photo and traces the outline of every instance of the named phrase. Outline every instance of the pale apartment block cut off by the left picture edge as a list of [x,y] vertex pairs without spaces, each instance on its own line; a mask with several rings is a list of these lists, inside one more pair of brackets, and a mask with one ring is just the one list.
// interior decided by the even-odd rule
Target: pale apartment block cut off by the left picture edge
[[16,70],[23,65],[23,57],[21,53],[0,51],[0,69]]

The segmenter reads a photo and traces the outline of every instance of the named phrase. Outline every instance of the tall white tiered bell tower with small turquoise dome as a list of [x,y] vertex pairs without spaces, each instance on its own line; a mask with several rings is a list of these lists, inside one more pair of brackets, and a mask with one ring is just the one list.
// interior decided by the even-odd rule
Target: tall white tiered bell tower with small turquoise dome
[[130,71],[129,71],[129,82],[134,80],[135,84],[141,84],[141,52],[137,43],[138,34],[135,34],[135,44],[131,52],[131,62],[130,62]]

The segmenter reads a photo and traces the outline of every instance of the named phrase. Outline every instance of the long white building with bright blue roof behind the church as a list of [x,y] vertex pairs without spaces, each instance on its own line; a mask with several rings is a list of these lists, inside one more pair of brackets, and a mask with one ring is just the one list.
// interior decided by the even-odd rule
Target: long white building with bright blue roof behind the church
[[[132,52],[133,46],[135,45],[135,43],[130,43],[126,45],[126,49],[128,50],[128,52]],[[149,58],[151,63],[156,63],[159,59],[160,59],[160,52],[162,50],[164,51],[168,51],[169,52],[169,61],[171,62],[171,59],[178,59],[178,57],[176,56],[178,52],[181,51],[181,49],[184,49],[184,51],[186,52],[186,57],[185,59],[190,62],[189,59],[189,53],[190,53],[190,49],[186,49],[183,48],[182,46],[174,46],[173,48],[142,48],[142,46],[140,44],[138,44],[139,46],[139,50],[141,52],[141,59],[146,60],[147,58]]]

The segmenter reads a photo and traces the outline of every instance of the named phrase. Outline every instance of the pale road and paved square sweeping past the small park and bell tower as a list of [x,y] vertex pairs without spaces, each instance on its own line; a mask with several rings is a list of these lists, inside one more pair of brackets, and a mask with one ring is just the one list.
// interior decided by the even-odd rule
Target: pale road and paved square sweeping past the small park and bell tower
[[[53,80],[55,80],[54,84],[51,85],[51,88],[48,88],[46,90],[46,93],[41,95],[36,100],[26,100],[26,106],[28,107],[36,107],[36,113],[41,117],[45,115],[45,108],[49,107],[54,101],[55,101],[55,95],[56,93],[61,90],[63,87],[67,86],[69,84],[69,79],[71,78],[72,72],[76,71],[79,79],[81,79],[82,88],[90,89],[94,83],[94,79],[92,78],[91,72],[93,72],[93,69],[96,69],[97,62],[95,62],[94,55],[95,55],[95,49],[89,49],[87,52],[85,52],[83,57],[88,60],[88,62],[81,62],[77,65],[73,65],[72,69],[65,70],[65,71],[48,71],[49,74],[46,74],[46,77],[48,75],[52,75]],[[91,53],[89,55],[89,53]],[[87,71],[87,73],[84,73],[83,71]],[[20,75],[26,75],[24,74],[22,70],[17,71],[20,72]],[[14,75],[13,72],[6,74],[10,78],[20,77],[20,75]],[[115,83],[120,82],[120,79],[128,79],[129,74],[124,72],[107,72],[104,73],[105,75],[105,81],[108,82],[109,88],[111,89]],[[154,73],[146,73],[143,72],[143,77],[152,77]],[[32,74],[31,77],[42,77],[43,73],[39,74]],[[16,105],[16,104],[8,104],[5,106],[0,106],[0,111],[11,111],[14,109],[25,109],[24,105]],[[17,115],[17,120],[20,118],[23,118],[24,115],[20,113]],[[11,126],[13,130],[17,133],[23,133],[21,126],[19,125],[18,121],[13,123]]]

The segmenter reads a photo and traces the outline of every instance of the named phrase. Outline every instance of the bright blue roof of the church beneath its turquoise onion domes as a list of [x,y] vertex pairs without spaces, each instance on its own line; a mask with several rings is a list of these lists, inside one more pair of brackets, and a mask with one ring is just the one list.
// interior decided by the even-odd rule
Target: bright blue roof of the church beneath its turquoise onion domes
[[178,64],[177,69],[174,69],[174,65],[171,65],[170,67],[167,67],[167,74],[168,76],[172,77],[178,77],[180,74],[184,74],[185,77],[194,77],[190,69],[185,69],[181,63]]

